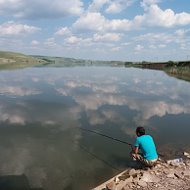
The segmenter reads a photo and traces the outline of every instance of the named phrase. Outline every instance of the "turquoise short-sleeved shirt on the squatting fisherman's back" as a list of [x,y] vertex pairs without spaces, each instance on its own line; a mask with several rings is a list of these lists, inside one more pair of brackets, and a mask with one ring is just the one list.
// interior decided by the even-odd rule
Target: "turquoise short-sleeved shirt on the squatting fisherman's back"
[[141,149],[145,159],[154,160],[158,158],[154,140],[150,135],[142,135],[140,137],[137,137],[135,146]]

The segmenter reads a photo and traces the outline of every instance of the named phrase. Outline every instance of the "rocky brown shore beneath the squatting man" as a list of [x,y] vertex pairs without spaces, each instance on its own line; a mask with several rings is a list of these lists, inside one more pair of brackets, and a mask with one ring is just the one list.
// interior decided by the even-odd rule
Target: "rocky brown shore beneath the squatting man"
[[128,169],[93,190],[190,190],[190,154],[159,160],[152,168]]

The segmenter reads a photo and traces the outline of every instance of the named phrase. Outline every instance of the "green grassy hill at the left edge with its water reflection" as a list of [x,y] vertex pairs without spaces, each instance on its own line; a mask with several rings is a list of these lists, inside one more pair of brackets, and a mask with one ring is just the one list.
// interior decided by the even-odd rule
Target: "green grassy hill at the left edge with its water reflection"
[[24,68],[45,63],[45,60],[21,53],[0,51],[0,69]]

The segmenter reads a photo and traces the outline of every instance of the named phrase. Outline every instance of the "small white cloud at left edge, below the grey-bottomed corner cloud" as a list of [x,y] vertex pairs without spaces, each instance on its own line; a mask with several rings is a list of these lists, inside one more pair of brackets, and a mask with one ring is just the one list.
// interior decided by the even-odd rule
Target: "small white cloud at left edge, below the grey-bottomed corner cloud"
[[1,36],[21,35],[38,32],[40,28],[35,26],[29,26],[26,24],[19,24],[15,22],[7,22],[0,25]]

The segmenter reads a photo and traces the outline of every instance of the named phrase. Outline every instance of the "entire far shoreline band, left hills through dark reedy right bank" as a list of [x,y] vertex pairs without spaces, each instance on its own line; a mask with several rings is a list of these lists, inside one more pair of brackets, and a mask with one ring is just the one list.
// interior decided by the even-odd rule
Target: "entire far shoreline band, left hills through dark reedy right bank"
[[21,53],[0,51],[0,69],[17,69],[33,66],[71,67],[71,66],[122,66],[158,69],[168,75],[190,81],[190,61],[168,62],[122,62],[122,61],[92,61],[50,56],[28,56]]

